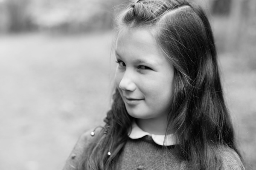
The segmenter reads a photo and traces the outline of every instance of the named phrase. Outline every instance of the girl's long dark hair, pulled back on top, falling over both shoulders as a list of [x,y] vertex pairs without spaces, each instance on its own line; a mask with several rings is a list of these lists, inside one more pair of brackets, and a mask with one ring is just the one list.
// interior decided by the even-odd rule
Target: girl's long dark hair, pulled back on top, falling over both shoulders
[[[166,134],[175,132],[180,158],[192,170],[225,169],[221,148],[241,155],[225,105],[212,29],[200,7],[186,0],[137,0],[117,18],[117,28],[150,28],[174,66],[174,95]],[[81,170],[114,170],[132,117],[116,89],[106,122],[109,133],[88,146]],[[111,156],[108,157],[108,149]]]

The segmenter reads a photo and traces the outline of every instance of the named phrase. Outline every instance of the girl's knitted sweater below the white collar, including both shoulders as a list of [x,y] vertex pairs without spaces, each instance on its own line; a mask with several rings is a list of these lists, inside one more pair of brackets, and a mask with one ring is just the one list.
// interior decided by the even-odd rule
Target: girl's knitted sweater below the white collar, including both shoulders
[[[95,139],[88,131],[80,137],[72,153],[66,161],[63,170],[76,170],[81,155],[86,146]],[[100,133],[96,130],[95,134]],[[124,150],[117,161],[117,170],[190,170],[186,160],[177,156],[177,151],[172,146],[167,146],[168,153],[156,144],[151,136],[144,136],[140,139],[128,139]],[[244,170],[239,158],[228,150],[221,151],[223,165],[227,170]]]

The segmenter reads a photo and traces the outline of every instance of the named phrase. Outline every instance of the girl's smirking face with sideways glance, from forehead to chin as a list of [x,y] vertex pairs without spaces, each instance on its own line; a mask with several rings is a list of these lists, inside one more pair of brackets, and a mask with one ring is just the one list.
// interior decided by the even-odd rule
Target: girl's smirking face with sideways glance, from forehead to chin
[[174,68],[145,29],[125,29],[116,42],[116,87],[128,113],[166,121],[173,96]]

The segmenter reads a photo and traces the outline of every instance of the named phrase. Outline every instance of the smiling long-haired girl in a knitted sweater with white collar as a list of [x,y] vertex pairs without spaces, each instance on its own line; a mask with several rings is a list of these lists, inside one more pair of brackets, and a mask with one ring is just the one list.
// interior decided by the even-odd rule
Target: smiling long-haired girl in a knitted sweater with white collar
[[203,10],[137,0],[117,23],[112,108],[64,170],[243,170]]

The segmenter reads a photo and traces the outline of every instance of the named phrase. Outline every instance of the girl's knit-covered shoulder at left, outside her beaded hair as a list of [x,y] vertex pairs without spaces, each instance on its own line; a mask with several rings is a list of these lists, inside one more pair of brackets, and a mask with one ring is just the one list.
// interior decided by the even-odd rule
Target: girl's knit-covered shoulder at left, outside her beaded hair
[[[92,135],[91,133],[94,132]],[[82,155],[90,143],[96,142],[98,136],[102,135],[101,128],[90,129],[81,134],[70,156],[68,157],[63,170],[74,170],[82,159]]]

